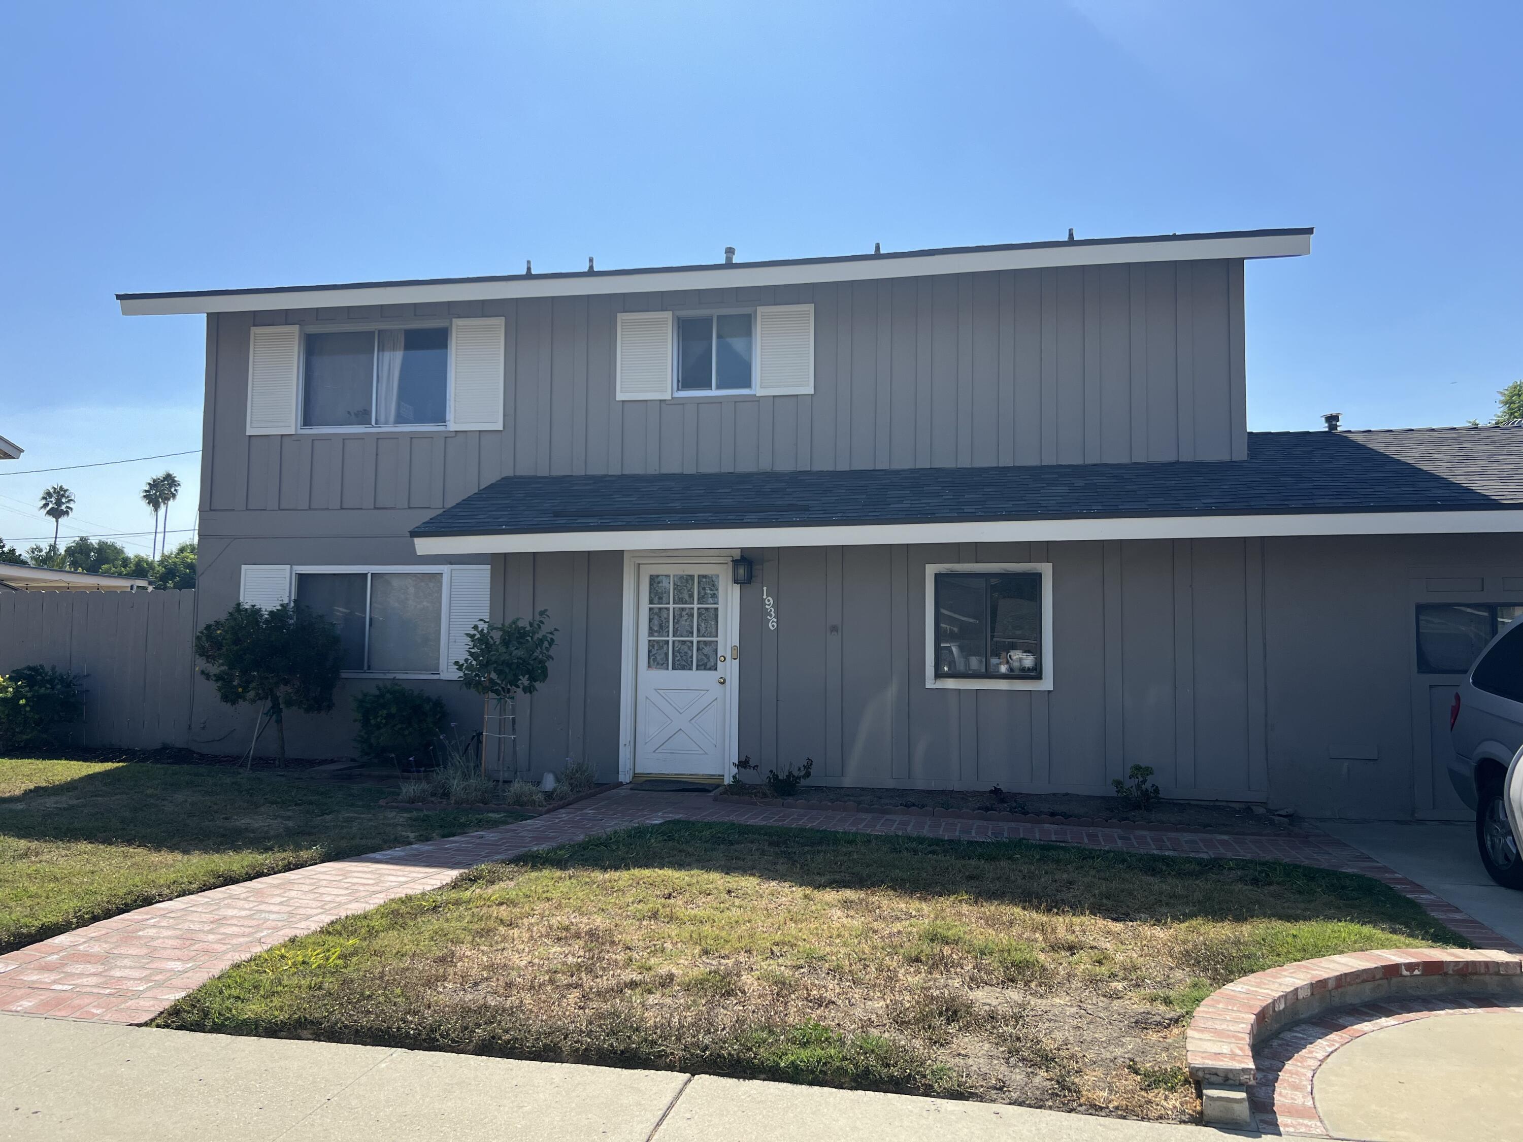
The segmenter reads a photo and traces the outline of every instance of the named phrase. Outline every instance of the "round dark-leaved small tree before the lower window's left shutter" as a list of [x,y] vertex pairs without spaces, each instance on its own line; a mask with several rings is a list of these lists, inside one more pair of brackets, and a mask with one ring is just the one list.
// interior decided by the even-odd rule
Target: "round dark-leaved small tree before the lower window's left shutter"
[[[308,714],[326,714],[334,708],[334,687],[343,662],[338,629],[305,606],[282,603],[265,611],[236,603],[222,618],[196,632],[195,653],[212,667],[203,668],[201,676],[216,685],[216,696],[227,705],[265,705],[276,723],[282,761],[285,708]],[[248,749],[253,754],[253,746]]]

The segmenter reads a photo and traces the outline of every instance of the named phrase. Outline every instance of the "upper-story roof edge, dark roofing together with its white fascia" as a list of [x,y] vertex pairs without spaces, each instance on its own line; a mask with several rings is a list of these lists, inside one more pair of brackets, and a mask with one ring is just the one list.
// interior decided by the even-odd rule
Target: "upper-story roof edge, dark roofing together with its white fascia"
[[117,294],[126,315],[228,314],[251,309],[484,301],[510,297],[571,297],[673,289],[725,289],[810,282],[860,282],[990,270],[1033,270],[1119,262],[1185,262],[1215,257],[1296,257],[1311,253],[1311,228],[1224,230],[1203,234],[1087,238],[1066,242],[1011,242],[940,250],[902,250],[841,257],[789,257],[774,262],[586,270],[495,277],[425,277],[396,282],[190,289],[168,294]]

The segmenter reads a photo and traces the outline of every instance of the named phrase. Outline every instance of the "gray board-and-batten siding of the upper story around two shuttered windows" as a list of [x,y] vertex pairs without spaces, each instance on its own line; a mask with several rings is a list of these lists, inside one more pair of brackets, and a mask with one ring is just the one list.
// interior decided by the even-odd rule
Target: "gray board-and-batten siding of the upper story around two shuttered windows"
[[[615,400],[615,314],[815,306],[812,396]],[[247,434],[251,324],[504,317],[501,431]],[[504,475],[1246,455],[1243,263],[207,318],[203,504],[439,510]]]

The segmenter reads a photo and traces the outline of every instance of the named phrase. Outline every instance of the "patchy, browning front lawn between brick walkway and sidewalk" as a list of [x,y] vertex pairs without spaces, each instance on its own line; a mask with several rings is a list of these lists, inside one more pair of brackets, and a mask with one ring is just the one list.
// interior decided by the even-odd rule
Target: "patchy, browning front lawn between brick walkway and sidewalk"
[[1424,943],[1462,941],[1296,865],[669,822],[340,920],[158,1025],[1188,1119],[1217,985]]

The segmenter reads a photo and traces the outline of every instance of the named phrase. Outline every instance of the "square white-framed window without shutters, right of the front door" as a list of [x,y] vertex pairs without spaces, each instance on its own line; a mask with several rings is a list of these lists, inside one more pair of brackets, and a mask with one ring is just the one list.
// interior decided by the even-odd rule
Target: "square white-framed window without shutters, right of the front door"
[[1051,563],[926,568],[926,685],[1052,688]]

